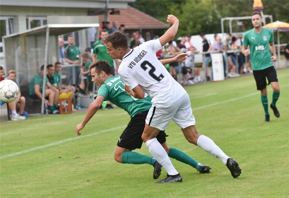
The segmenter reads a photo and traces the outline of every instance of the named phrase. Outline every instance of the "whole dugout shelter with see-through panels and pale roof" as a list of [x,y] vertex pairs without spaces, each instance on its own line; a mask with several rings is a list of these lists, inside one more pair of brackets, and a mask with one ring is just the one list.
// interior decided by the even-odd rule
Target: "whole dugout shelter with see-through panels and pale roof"
[[[90,27],[99,28],[98,16],[47,16],[46,25],[2,37],[5,74],[10,69],[16,71],[21,95],[26,98],[25,111],[29,114],[44,114],[46,75],[43,76],[42,101],[29,97],[29,83],[40,72],[41,65],[45,65],[46,71],[48,64],[60,60],[58,36]],[[37,103],[39,108],[36,108]]]

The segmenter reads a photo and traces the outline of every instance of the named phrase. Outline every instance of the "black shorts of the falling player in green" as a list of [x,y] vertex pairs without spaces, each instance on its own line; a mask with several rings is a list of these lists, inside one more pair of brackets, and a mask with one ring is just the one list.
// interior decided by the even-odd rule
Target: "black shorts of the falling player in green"
[[[144,131],[145,119],[147,118],[149,110],[139,112],[131,118],[127,127],[118,139],[117,146],[134,150],[142,147],[142,132]],[[163,144],[166,142],[166,133],[160,131],[157,135],[158,142]]]

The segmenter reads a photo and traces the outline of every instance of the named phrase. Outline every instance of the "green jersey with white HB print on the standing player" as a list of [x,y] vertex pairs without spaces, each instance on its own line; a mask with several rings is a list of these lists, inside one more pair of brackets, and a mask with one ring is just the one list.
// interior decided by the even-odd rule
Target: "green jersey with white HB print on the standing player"
[[246,32],[243,45],[250,47],[253,70],[262,70],[273,66],[269,42],[274,42],[274,40],[272,32],[268,29],[263,28],[260,34],[254,29]]

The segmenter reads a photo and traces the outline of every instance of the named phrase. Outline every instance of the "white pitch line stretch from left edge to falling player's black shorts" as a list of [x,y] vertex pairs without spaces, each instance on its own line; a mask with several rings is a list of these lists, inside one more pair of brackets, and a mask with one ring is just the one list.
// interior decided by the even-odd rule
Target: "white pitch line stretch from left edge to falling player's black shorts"
[[[126,126],[127,125],[124,125],[124,126],[121,126],[121,127],[115,127],[115,128],[111,128],[111,129],[105,129],[105,130],[102,130],[102,131],[99,131],[99,132],[90,133],[90,134],[87,134],[87,135],[80,135],[80,136],[77,136],[77,137],[72,137],[72,138],[60,140],[58,142],[53,142],[53,143],[46,144],[46,145],[43,145],[43,146],[37,146],[37,147],[30,148],[30,149],[27,149],[27,150],[23,150],[23,151],[20,151],[20,152],[8,154],[8,155],[3,155],[3,156],[0,157],[0,159],[4,159],[4,158],[7,158],[7,157],[12,157],[12,156],[15,156],[15,155],[21,155],[23,153],[28,153],[28,152],[31,152],[31,151],[34,151],[34,150],[38,150],[38,149],[42,149],[42,148],[46,148],[46,147],[49,147],[49,146],[62,144],[64,142],[69,142],[69,141],[72,141],[72,140],[75,140],[75,139],[79,139],[79,138],[83,138],[83,137],[90,137],[92,135],[97,135],[97,134],[100,134],[100,133],[105,133],[105,132],[116,130],[116,129],[123,129]],[[76,135],[76,133],[75,133],[75,135]]]

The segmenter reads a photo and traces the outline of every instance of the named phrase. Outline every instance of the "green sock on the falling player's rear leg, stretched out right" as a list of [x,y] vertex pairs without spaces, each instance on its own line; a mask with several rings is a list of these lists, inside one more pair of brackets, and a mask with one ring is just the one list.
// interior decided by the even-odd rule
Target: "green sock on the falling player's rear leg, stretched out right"
[[171,147],[170,151],[168,152],[168,156],[173,159],[176,159],[177,161],[188,164],[200,172],[202,171],[202,167],[203,167],[202,164],[200,164],[199,162],[197,162],[196,160],[194,160],[193,158],[188,156],[186,153],[184,153],[183,151],[177,148]]

